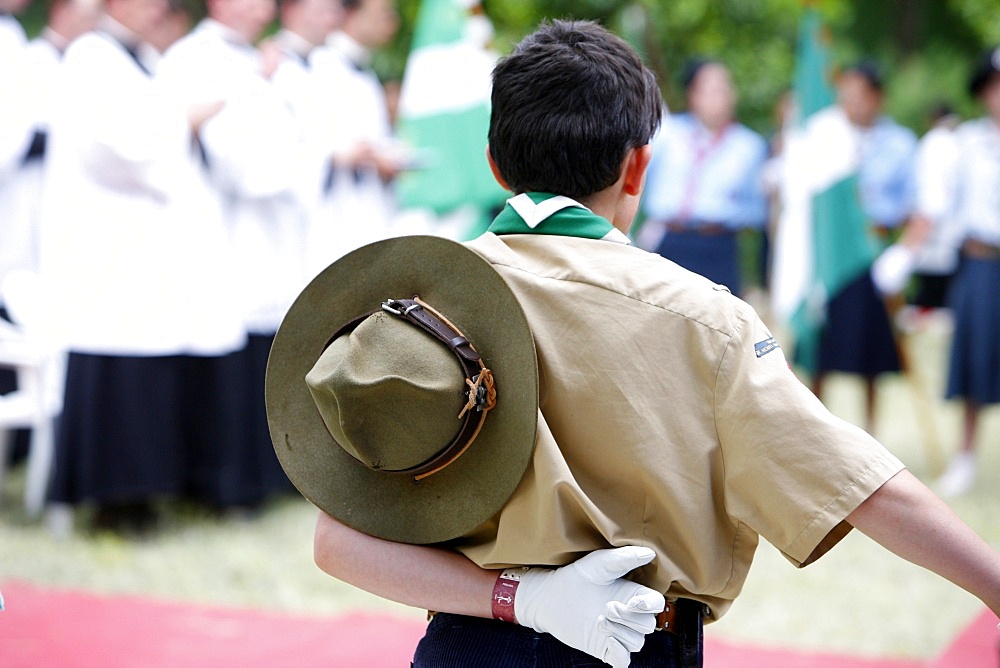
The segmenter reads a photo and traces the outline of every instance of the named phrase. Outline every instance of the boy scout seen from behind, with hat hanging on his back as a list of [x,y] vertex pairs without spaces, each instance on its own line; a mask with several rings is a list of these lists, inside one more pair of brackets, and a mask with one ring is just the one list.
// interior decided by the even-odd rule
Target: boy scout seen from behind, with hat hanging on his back
[[272,438],[324,511],[316,562],[437,611],[416,666],[700,665],[760,536],[804,566],[852,527],[1000,611],[1000,555],[750,307],[628,245],[660,113],[624,42],[542,25],[494,71],[515,196],[490,231],[361,249],[279,331]]

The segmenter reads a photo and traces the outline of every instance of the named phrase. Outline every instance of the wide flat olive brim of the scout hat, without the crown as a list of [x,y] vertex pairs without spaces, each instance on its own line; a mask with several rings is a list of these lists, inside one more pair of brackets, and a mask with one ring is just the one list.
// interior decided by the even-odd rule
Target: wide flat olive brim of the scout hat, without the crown
[[[372,470],[345,452],[305,383],[342,325],[387,299],[414,295],[472,342],[497,390],[469,450],[419,482]],[[296,298],[271,347],[265,396],[278,460],[303,496],[366,534],[437,543],[489,520],[519,484],[535,442],[538,365],[524,311],[486,260],[441,237],[398,237],[345,255]]]

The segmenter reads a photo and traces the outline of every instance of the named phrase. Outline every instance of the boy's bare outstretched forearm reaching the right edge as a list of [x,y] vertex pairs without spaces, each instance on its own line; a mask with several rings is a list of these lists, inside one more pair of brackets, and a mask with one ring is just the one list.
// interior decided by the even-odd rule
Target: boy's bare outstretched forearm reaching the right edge
[[979,597],[1000,616],[1000,554],[909,471],[847,516],[886,549]]

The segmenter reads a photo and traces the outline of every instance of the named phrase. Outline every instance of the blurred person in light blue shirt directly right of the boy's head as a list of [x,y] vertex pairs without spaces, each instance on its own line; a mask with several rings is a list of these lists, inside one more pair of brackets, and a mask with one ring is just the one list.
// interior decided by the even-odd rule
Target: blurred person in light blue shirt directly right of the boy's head
[[665,119],[653,144],[638,243],[739,295],[738,234],[768,218],[767,143],[736,121],[723,64],[693,61],[682,83],[689,111]]

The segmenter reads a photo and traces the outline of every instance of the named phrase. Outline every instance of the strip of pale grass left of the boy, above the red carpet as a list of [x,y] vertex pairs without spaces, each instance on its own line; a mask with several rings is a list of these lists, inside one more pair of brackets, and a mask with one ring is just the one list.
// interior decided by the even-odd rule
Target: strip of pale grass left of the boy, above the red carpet
[[407,610],[316,568],[316,511],[299,497],[242,519],[171,508],[164,526],[142,539],[85,530],[56,538],[16,507],[19,476],[9,482],[0,511],[0,581],[317,615]]

